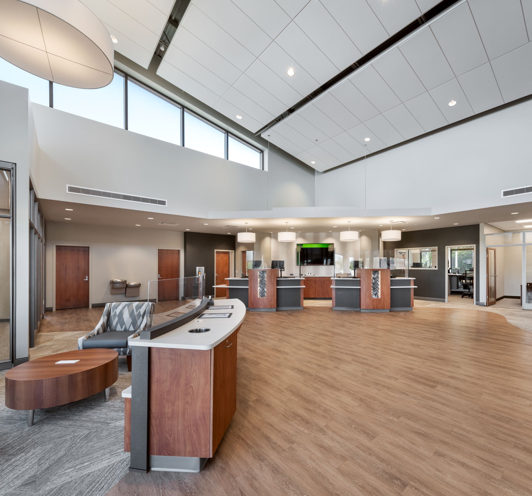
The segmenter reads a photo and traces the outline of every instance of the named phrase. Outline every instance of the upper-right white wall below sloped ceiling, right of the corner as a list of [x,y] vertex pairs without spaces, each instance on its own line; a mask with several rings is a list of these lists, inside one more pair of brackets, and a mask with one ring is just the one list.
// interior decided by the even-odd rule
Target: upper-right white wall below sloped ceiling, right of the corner
[[[445,213],[530,201],[501,198],[530,184],[530,115],[532,99],[368,157],[367,208]],[[364,159],[318,173],[316,206],[363,209]]]

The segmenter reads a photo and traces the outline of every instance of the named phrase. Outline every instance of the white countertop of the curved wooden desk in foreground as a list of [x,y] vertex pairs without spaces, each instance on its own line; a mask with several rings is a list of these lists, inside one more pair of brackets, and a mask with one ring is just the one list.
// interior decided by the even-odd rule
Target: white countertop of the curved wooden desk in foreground
[[[230,310],[217,310],[220,305],[233,305]],[[173,331],[162,336],[141,340],[136,337],[129,341],[131,346],[154,346],[158,348],[184,348],[184,349],[212,349],[226,339],[244,321],[246,306],[240,300],[214,300],[214,306],[208,307],[205,313],[231,313],[228,319],[194,319]],[[209,327],[209,332],[194,333],[189,329],[196,327]]]

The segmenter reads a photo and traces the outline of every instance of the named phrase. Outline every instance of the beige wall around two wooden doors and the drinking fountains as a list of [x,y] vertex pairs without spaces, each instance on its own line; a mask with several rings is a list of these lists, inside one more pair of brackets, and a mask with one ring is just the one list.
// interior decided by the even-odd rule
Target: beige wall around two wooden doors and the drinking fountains
[[[54,244],[91,247],[90,303],[126,300],[110,293],[111,279],[139,282],[140,296],[148,297],[148,281],[157,279],[157,248],[181,250],[183,276],[183,233],[130,227],[101,227],[84,224],[46,224],[46,306],[53,306]],[[152,297],[152,295],[151,295]]]

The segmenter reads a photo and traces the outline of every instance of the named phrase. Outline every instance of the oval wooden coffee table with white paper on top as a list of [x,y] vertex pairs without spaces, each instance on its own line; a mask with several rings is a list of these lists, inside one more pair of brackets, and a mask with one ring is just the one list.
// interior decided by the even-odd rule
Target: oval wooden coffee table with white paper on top
[[[68,363],[74,361],[75,363]],[[67,361],[67,363],[57,363]],[[5,406],[28,411],[33,425],[34,411],[65,405],[105,390],[118,379],[118,353],[114,349],[80,349],[30,360],[5,374]]]

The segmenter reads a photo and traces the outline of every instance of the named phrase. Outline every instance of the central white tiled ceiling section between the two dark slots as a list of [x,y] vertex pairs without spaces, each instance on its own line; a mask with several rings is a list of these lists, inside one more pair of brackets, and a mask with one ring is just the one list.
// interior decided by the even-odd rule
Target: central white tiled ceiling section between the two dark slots
[[157,74],[256,132],[437,3],[191,0]]

